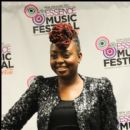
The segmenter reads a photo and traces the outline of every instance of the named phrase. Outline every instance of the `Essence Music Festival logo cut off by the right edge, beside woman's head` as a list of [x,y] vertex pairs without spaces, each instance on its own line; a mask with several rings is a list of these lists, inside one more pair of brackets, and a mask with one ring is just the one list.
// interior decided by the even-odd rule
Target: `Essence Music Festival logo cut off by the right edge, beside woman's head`
[[100,36],[95,41],[95,46],[105,57],[103,59],[105,68],[130,65],[130,38],[110,42],[106,36]]

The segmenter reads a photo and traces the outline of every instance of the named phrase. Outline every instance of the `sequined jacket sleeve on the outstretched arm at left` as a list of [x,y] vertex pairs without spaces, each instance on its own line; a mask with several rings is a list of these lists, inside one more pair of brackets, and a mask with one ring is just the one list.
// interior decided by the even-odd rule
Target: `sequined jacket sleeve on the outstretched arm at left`
[[1,121],[1,130],[21,130],[29,118],[37,111],[38,85],[36,78],[21,98],[9,109]]

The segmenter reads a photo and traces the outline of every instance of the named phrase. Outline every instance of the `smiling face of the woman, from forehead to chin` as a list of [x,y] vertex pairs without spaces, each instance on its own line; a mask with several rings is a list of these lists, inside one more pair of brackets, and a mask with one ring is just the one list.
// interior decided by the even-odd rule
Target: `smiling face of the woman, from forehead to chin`
[[77,45],[71,41],[65,49],[58,48],[55,44],[50,48],[50,65],[59,77],[71,77],[77,74],[78,64],[82,54],[77,52]]

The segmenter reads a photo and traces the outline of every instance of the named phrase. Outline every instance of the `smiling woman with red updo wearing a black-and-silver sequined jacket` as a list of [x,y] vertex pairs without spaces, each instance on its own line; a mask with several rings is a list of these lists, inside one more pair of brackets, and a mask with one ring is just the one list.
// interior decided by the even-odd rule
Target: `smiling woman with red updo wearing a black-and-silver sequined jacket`
[[111,82],[78,73],[82,53],[76,31],[59,23],[49,39],[57,76],[37,76],[5,115],[2,130],[20,130],[35,112],[38,130],[118,130]]

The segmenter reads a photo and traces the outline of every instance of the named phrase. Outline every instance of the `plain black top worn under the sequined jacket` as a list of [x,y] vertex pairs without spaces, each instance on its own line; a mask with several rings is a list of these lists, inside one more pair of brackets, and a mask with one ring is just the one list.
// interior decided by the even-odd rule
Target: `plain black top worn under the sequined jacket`
[[50,116],[49,130],[79,130],[73,101],[61,100]]

